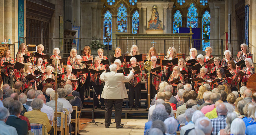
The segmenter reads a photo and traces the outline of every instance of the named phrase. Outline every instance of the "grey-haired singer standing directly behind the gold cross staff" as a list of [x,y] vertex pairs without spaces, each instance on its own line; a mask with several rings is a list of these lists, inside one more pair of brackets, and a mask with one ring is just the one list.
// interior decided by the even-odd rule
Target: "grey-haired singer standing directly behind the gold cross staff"
[[[151,65],[151,69],[160,67],[160,65],[156,64],[156,61],[157,61],[156,56],[152,56],[150,59],[153,62],[153,65]],[[156,90],[161,82],[161,76],[162,76],[161,72],[160,73],[156,73],[156,72],[150,73],[150,82],[149,82],[149,84],[150,84],[150,100],[153,99],[157,94]],[[145,74],[144,78],[146,80],[145,87],[146,87],[146,90],[148,91],[148,74]],[[147,103],[148,103],[148,96],[147,96]]]

